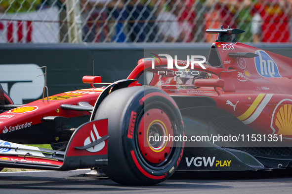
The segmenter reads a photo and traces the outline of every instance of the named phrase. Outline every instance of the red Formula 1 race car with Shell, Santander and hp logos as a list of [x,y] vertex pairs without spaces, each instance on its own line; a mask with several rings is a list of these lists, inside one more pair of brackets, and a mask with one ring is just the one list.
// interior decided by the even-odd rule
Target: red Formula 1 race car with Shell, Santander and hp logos
[[[0,88],[0,167],[101,167],[152,185],[175,171],[292,167],[292,59],[218,33],[208,62],[139,60],[125,80],[14,105]],[[160,58],[166,56],[166,58]],[[53,150],[23,144],[51,144]]]

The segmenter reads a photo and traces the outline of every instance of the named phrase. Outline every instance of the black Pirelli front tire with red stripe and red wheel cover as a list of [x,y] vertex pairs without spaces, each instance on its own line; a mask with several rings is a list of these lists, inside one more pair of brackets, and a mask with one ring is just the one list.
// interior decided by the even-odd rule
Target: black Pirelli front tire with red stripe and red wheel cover
[[147,138],[184,134],[180,111],[167,93],[148,86],[119,89],[100,104],[95,119],[104,118],[110,138],[108,166],[102,170],[110,179],[125,185],[154,185],[174,173],[184,142]]

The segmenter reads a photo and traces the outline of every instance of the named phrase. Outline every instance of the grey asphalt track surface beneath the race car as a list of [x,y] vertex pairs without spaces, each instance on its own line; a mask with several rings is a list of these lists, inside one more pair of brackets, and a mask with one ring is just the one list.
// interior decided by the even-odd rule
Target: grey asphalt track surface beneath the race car
[[292,170],[176,173],[151,187],[123,186],[108,178],[87,176],[86,172],[89,170],[0,172],[0,194],[292,193]]

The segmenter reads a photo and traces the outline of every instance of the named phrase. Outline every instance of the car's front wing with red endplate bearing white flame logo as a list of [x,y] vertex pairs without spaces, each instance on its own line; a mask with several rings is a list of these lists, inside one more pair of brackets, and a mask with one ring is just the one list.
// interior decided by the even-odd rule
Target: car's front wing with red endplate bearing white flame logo
[[108,120],[87,122],[73,133],[65,152],[0,140],[0,167],[73,170],[107,165]]

